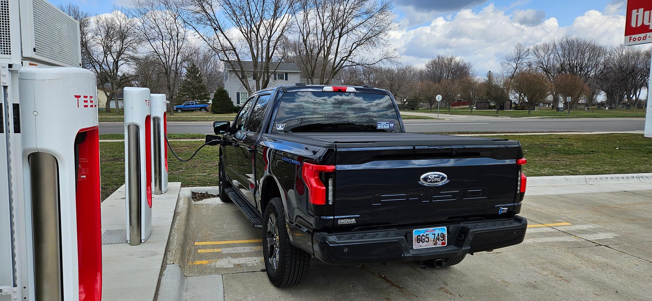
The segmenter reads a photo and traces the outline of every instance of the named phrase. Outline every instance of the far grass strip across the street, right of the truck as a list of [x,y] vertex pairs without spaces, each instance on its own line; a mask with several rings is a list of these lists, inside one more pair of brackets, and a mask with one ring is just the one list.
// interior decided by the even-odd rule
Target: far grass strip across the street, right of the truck
[[[596,107],[591,107],[591,111],[584,111],[584,107],[578,110],[571,110],[570,118],[623,118],[623,117],[645,117],[645,109],[636,109],[632,107],[631,109],[596,109]],[[409,111],[408,111],[409,112]],[[419,109],[419,112],[430,112],[430,109]],[[433,111],[436,113],[437,111]],[[527,115],[527,111],[516,111],[516,110],[507,110],[500,111],[496,114],[495,109],[491,110],[477,110],[474,109],[473,113],[468,107],[464,108],[453,108],[449,113],[448,109],[439,111],[442,114],[454,114],[454,115],[478,115],[478,116],[507,116],[507,117],[554,117],[554,118],[568,118],[566,111],[557,112],[553,109],[544,108],[531,111],[530,115]]]

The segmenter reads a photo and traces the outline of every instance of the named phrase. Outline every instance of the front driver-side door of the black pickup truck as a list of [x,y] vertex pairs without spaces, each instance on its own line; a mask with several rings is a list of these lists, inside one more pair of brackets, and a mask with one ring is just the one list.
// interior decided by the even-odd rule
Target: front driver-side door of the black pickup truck
[[239,190],[245,196],[246,192],[249,191],[249,187],[246,184],[246,180],[243,180],[243,174],[241,173],[243,169],[240,167],[240,164],[243,160],[243,152],[246,152],[246,150],[243,149],[240,143],[244,140],[244,125],[251,112],[253,102],[253,98],[249,98],[244,102],[243,107],[235,117],[235,121],[233,121],[233,126],[222,136],[222,139],[224,139],[224,147],[222,148],[224,171],[226,171],[226,175],[231,181],[233,188]]

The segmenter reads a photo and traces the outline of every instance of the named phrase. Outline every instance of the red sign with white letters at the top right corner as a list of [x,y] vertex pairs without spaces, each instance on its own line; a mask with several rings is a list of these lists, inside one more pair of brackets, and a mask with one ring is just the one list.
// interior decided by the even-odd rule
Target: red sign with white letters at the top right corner
[[652,42],[652,1],[627,0],[625,45]]

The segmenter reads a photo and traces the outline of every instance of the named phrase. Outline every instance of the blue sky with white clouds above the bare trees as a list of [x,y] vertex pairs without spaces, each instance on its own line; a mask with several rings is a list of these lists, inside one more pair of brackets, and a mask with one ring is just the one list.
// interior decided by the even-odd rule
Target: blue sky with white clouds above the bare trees
[[[74,3],[93,14],[129,6],[131,0],[50,0]],[[389,42],[400,63],[424,64],[436,55],[457,55],[477,74],[499,71],[514,44],[537,44],[563,35],[621,44],[625,0],[394,0],[396,31]]]

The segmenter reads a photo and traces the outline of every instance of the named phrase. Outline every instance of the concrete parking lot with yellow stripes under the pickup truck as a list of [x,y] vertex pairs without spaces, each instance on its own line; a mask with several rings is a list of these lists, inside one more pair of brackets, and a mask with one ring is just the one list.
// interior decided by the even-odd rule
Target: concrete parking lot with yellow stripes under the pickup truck
[[214,300],[652,300],[652,190],[527,196],[517,246],[428,270],[314,259],[308,279],[284,289],[261,271],[261,231],[235,205],[192,206],[182,269],[223,284]]

